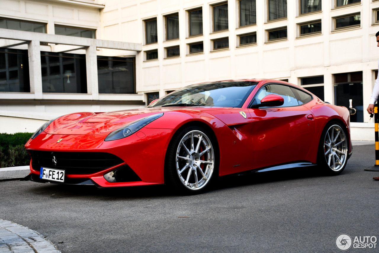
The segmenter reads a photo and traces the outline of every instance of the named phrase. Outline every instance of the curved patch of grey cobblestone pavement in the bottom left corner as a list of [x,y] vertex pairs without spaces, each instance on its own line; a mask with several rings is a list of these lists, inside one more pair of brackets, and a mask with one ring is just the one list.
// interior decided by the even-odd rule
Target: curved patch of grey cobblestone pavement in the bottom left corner
[[58,253],[54,245],[31,229],[0,219],[0,253]]

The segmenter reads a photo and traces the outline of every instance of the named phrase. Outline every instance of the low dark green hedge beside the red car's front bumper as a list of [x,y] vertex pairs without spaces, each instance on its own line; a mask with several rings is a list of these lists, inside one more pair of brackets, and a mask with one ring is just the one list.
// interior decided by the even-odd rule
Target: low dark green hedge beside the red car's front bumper
[[0,133],[0,168],[29,165],[24,145],[33,133]]

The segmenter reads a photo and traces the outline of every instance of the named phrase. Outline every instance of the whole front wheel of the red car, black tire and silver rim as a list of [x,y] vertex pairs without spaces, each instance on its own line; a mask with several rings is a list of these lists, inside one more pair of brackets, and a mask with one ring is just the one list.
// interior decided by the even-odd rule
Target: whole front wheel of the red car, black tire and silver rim
[[213,135],[200,126],[179,130],[167,150],[167,183],[179,194],[204,191],[217,176],[216,145]]

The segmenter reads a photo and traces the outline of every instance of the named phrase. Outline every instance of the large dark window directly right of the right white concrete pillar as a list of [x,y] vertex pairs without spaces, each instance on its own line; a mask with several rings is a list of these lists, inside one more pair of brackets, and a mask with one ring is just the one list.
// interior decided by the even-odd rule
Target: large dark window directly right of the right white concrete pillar
[[99,93],[135,93],[134,70],[134,58],[98,56]]

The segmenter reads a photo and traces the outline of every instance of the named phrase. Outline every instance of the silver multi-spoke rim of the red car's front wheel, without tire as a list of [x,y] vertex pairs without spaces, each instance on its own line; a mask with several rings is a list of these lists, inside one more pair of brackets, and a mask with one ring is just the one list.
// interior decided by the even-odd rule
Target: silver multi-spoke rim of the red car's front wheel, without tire
[[176,172],[189,190],[200,190],[215,168],[215,152],[208,136],[199,130],[186,133],[176,151]]

